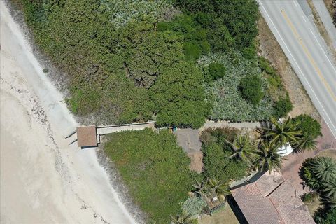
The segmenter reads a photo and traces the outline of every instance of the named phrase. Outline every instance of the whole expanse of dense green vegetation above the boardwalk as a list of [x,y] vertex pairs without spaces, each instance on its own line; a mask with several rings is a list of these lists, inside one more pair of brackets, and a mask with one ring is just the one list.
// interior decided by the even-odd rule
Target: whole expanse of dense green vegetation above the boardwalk
[[[224,83],[230,85],[227,81],[234,75],[221,62],[221,54],[237,50],[242,55],[239,60],[246,60],[231,64],[239,70],[250,71],[244,66],[255,64],[248,64],[256,58],[258,33],[258,4],[253,0],[16,2],[22,6],[34,41],[65,73],[66,102],[78,116],[90,116],[96,123],[131,123],[155,115],[158,125],[200,127],[213,105],[212,119],[267,120],[273,111],[268,95],[254,108],[248,102],[240,104],[237,92],[221,94]],[[209,62],[208,69],[197,69],[198,59],[213,57],[214,52],[220,58]],[[245,75],[243,71],[235,82]],[[210,87],[204,89],[204,82]],[[262,86],[265,90],[266,80]],[[215,97],[204,102],[204,91]],[[162,95],[172,100],[158,106]],[[221,108],[225,103],[230,104],[229,111]],[[239,115],[236,111],[247,112]],[[188,114],[193,118],[187,118]]]

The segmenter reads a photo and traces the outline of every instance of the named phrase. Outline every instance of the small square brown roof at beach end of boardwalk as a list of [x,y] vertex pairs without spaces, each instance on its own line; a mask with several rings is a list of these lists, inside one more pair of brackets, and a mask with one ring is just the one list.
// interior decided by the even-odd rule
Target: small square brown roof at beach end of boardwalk
[[96,126],[77,127],[77,139],[78,147],[97,146]]

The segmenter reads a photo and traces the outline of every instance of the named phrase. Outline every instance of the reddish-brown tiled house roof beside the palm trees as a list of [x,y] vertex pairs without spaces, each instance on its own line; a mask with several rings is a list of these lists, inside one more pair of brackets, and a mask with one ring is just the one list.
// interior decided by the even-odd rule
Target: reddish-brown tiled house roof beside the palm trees
[[253,183],[232,190],[249,224],[314,224],[297,191],[279,172],[266,172]]

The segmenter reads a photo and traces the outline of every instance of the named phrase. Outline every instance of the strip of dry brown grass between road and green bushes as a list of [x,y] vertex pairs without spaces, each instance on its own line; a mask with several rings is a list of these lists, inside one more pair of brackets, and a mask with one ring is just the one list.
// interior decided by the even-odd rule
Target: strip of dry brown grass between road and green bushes
[[259,54],[269,59],[269,62],[279,72],[283,85],[288,90],[290,100],[293,102],[294,108],[290,111],[290,116],[294,117],[305,113],[313,116],[316,120],[321,120],[300,79],[297,78],[281,46],[262,16],[258,20],[258,28]]

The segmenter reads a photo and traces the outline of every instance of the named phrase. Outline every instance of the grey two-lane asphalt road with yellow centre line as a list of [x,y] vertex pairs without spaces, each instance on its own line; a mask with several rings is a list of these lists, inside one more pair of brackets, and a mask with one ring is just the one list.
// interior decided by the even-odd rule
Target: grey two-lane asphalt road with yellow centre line
[[336,66],[297,1],[261,0],[260,11],[336,138]]

